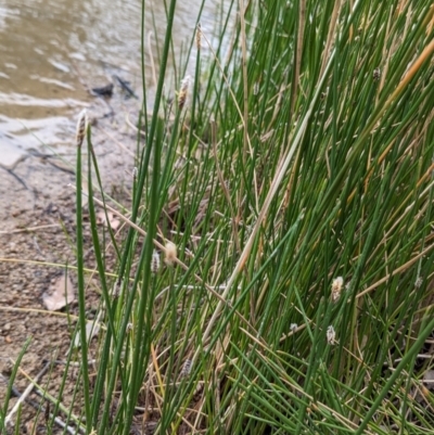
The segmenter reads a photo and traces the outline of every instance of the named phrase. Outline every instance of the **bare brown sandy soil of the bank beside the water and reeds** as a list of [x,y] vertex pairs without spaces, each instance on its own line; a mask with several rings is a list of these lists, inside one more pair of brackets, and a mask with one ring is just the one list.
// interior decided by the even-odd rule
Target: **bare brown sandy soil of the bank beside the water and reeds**
[[[137,133],[126,123],[129,113],[136,123],[139,102],[114,95],[111,105],[113,116],[105,116],[107,106],[95,100],[88,110],[93,118],[93,146],[100,163],[104,190],[128,203],[132,181],[133,153]],[[42,302],[42,295],[64,273],[65,265],[75,265],[75,191],[68,185],[75,183],[75,138],[71,149],[62,153],[62,158],[49,150],[29,153],[12,168],[0,166],[0,404],[3,405],[7,380],[11,368],[30,338],[14,386],[23,392],[29,384],[24,373],[37,375],[47,361],[64,361],[75,324],[71,323],[65,309],[50,312]],[[85,251],[88,267],[92,259],[89,220],[85,213]],[[114,265],[113,253],[107,253],[107,264]],[[68,276],[75,287],[76,278]],[[94,281],[97,283],[97,280]],[[94,316],[98,304],[98,285],[89,285],[87,304],[89,319]],[[69,306],[76,315],[77,303]],[[92,354],[92,353],[91,353]],[[89,357],[92,358],[93,355]],[[48,386],[50,394],[59,392],[64,366],[54,363],[39,381]],[[77,373],[69,373],[63,394],[64,405],[72,400]],[[30,398],[44,404],[35,393]],[[16,398],[10,402],[12,409]],[[59,414],[63,418],[62,414]],[[35,420],[35,409],[28,404],[22,409],[20,433],[30,433]],[[9,430],[12,433],[16,415]],[[39,418],[43,422],[43,415]],[[43,424],[41,426],[43,428]]]

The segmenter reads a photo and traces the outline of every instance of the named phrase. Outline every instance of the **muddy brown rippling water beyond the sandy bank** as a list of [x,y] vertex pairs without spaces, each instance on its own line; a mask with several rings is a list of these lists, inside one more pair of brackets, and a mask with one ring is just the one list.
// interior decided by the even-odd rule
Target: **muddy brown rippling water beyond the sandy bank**
[[[208,0],[201,17],[213,31],[219,9]],[[162,0],[146,2],[146,86],[165,34]],[[194,33],[201,0],[179,1],[174,23],[176,57]],[[153,20],[155,29],[153,28]],[[140,88],[138,0],[2,0],[0,3],[0,164],[13,166],[41,142],[69,144],[73,118],[92,102],[85,86],[103,86],[113,74]],[[168,65],[170,68],[171,65]]]

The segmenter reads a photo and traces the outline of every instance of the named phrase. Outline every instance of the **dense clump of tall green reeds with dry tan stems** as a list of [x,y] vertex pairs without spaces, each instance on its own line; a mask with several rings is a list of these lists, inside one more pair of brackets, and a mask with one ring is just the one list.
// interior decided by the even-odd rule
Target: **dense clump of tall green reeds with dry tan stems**
[[168,103],[175,5],[115,280],[92,225],[104,328],[81,426],[431,433],[433,7],[233,2],[217,44],[192,29]]

